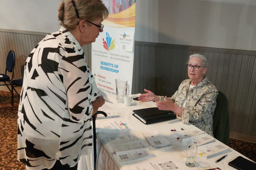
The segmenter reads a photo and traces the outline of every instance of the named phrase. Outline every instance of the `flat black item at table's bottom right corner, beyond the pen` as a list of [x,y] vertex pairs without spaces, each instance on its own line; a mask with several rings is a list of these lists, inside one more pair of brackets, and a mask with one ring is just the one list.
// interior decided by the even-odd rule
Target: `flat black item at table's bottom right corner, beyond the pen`
[[249,161],[242,156],[238,156],[233,161],[230,161],[229,166],[237,170],[256,170],[256,163]]

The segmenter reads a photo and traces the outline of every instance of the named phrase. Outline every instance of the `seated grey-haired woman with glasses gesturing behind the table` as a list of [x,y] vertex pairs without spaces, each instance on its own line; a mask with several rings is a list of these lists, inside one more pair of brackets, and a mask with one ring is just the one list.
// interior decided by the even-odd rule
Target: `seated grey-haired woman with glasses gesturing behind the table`
[[172,110],[182,118],[184,124],[195,127],[213,136],[213,114],[216,107],[218,90],[204,74],[208,61],[201,54],[193,54],[187,64],[188,76],[171,98],[157,96],[145,89],[139,96],[141,102],[155,101],[159,110]]

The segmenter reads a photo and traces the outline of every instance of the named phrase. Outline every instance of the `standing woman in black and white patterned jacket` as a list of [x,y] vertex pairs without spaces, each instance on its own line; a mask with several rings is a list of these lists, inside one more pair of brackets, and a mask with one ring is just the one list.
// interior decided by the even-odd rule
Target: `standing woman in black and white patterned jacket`
[[29,54],[18,108],[18,160],[27,170],[75,170],[91,153],[90,119],[105,101],[82,46],[95,42],[108,14],[101,0],[64,0],[61,29]]

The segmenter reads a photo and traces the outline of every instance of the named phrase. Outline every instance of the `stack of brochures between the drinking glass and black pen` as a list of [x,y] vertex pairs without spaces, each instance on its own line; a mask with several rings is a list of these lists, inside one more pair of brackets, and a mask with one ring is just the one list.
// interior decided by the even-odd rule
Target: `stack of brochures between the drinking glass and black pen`
[[219,141],[216,141],[211,144],[205,144],[197,148],[197,153],[200,154],[205,159],[210,159],[212,157],[219,156],[229,152],[231,152],[230,147]]

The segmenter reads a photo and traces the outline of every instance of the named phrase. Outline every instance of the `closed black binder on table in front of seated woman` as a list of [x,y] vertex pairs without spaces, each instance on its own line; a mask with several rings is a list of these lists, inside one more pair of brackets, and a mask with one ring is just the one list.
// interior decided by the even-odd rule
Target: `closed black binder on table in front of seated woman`
[[133,112],[134,112],[134,114],[132,114],[132,115],[135,116],[137,119],[139,119],[135,115],[135,113],[136,113],[140,118],[145,120],[145,122],[144,122],[141,119],[139,119],[141,122],[145,123],[146,125],[150,124],[150,123],[157,123],[157,122],[161,122],[161,121],[176,119],[176,115],[174,114],[173,111],[159,110],[156,107],[133,110]]

